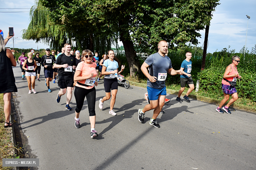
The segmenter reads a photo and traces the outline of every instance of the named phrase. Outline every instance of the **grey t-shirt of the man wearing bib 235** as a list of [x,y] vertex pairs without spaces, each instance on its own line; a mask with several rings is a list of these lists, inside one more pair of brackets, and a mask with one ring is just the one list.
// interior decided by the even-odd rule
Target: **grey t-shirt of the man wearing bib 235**
[[[171,59],[167,56],[162,57],[159,53],[155,53],[150,55],[146,60],[145,63],[149,65],[149,74],[150,76],[155,76],[161,78],[160,73],[167,73],[170,68],[172,68]],[[168,73],[167,73],[168,74]],[[166,78],[166,77],[165,77]],[[149,79],[147,81],[147,86],[154,88],[154,89],[162,89],[165,87],[165,80],[164,81],[156,81],[154,83],[150,82]]]

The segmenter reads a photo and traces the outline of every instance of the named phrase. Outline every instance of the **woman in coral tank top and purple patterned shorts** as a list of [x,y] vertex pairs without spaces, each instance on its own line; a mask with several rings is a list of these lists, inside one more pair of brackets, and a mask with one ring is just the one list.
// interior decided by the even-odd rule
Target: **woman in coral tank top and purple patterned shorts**
[[[224,99],[221,101],[220,106],[216,109],[216,111],[218,111],[219,113],[224,113],[222,111],[222,109],[228,113],[231,114],[230,110],[228,109],[228,107],[230,105],[232,105],[237,99],[238,99],[238,94],[236,91],[235,86],[231,86],[229,82],[237,82],[237,78],[241,78],[242,76],[239,76],[239,73],[237,71],[237,65],[240,62],[240,57],[238,56],[233,56],[232,57],[232,63],[229,64],[226,67],[223,79],[222,79],[222,91],[224,93]],[[231,94],[232,99],[229,100],[229,94]],[[223,106],[227,101],[229,100],[229,102],[227,103],[226,106]],[[222,107],[223,106],[223,107]],[[221,108],[222,107],[222,108]]]

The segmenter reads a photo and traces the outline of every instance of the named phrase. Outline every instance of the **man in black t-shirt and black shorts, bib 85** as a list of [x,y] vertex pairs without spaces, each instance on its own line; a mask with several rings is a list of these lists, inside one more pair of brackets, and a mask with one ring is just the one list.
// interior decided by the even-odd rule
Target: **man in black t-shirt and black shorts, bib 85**
[[67,91],[66,109],[72,110],[72,108],[69,106],[69,103],[72,99],[72,91],[74,88],[74,76],[72,70],[75,69],[75,58],[70,54],[71,45],[69,43],[64,44],[64,48],[65,52],[58,56],[54,64],[54,67],[59,69],[58,85],[60,87],[56,101],[59,103],[60,97]]

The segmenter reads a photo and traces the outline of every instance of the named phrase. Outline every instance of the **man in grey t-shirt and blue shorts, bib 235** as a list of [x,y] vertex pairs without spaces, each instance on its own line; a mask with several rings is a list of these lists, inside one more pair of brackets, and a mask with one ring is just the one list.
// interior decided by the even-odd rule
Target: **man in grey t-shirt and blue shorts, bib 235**
[[[153,110],[153,117],[150,119],[149,124],[154,127],[160,127],[156,118],[159,115],[164,105],[166,96],[165,79],[167,73],[174,76],[177,74],[182,75],[182,70],[174,70],[172,62],[165,54],[168,50],[168,43],[164,40],[158,43],[158,53],[150,55],[141,66],[141,71],[148,78],[147,91],[150,104],[146,105],[144,109],[139,109],[138,119],[141,123],[144,122],[144,114],[146,111]],[[147,68],[149,67],[149,72]]]

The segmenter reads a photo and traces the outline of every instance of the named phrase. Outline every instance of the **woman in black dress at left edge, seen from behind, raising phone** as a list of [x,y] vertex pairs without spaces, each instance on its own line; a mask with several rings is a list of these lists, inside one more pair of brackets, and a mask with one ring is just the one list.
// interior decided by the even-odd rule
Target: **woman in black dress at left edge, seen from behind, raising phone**
[[0,36],[0,93],[4,93],[4,112],[5,125],[4,127],[11,127],[11,92],[18,92],[15,85],[15,78],[12,67],[16,67],[16,61],[13,58],[11,50],[5,49],[5,42]]

